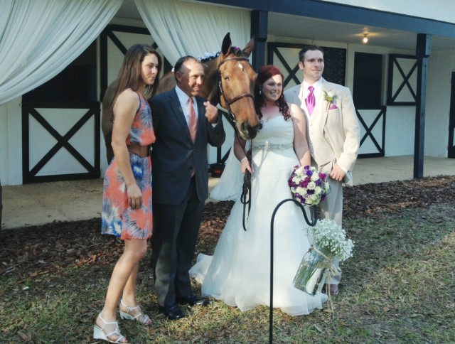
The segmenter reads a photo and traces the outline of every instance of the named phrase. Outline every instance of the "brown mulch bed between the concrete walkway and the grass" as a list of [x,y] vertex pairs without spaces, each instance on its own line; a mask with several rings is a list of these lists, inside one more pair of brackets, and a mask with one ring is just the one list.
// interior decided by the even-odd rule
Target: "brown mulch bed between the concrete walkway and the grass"
[[[345,188],[343,216],[374,218],[437,203],[455,204],[455,176]],[[228,201],[205,206],[200,241],[218,240],[232,204]],[[122,253],[121,242],[100,235],[100,218],[3,230],[0,247],[0,276],[33,277],[56,272],[68,264],[111,264]]]

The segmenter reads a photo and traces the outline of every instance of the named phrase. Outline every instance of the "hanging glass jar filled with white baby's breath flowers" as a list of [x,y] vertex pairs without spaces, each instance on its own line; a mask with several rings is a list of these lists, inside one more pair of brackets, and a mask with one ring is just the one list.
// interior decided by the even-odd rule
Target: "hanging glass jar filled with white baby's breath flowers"
[[319,220],[309,227],[309,235],[314,244],[304,255],[296,276],[294,286],[314,295],[321,292],[329,274],[337,274],[332,259],[338,261],[353,257],[354,242],[346,238],[346,232],[333,220]]

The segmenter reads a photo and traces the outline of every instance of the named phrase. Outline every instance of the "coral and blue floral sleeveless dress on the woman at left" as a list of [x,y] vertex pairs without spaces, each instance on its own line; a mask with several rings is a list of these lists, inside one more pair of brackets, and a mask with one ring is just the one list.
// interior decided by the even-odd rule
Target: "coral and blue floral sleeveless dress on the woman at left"
[[[138,93],[139,95],[139,93]],[[127,145],[147,146],[155,141],[149,104],[139,95],[139,108],[127,137]],[[127,186],[115,157],[105,173],[102,195],[101,232],[125,239],[147,239],[151,237],[151,159],[129,153],[129,162],[137,186],[141,189],[143,203],[141,208],[128,206]]]

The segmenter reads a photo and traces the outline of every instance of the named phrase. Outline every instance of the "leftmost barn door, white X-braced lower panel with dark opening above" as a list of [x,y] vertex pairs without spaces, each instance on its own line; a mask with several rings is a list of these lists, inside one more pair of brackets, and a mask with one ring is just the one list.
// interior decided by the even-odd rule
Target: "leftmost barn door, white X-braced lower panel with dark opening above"
[[100,177],[97,47],[22,97],[23,183]]

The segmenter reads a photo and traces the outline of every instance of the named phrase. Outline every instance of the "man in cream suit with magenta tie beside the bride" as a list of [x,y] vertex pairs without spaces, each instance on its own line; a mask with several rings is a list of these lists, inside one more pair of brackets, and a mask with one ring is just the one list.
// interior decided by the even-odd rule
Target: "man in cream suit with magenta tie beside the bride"
[[[319,171],[330,174],[331,190],[321,202],[321,215],[341,225],[343,183],[353,185],[351,171],[360,146],[353,98],[347,87],[323,79],[323,50],[318,45],[300,50],[299,68],[304,72],[304,81],[284,92],[284,97],[306,114],[311,163]],[[333,264],[338,268],[338,274],[331,276],[328,287],[332,295],[338,295],[341,269],[338,261],[334,260]]]

